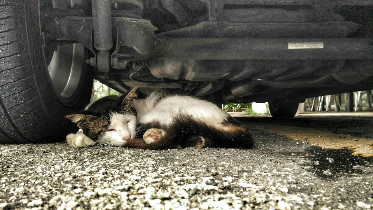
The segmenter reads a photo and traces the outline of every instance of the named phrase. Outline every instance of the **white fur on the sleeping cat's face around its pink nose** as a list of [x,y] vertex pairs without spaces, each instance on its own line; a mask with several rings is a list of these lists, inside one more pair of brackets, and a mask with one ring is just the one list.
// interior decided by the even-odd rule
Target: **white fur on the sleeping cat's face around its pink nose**
[[124,146],[136,135],[137,120],[132,114],[113,113],[110,116],[110,126],[104,135],[97,140],[97,145]]

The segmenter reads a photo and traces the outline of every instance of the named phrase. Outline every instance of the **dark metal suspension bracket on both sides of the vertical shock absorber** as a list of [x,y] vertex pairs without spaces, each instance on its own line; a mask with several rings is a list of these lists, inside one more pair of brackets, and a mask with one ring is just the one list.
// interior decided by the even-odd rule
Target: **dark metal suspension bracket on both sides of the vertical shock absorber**
[[[117,34],[116,50],[109,59],[110,66],[122,68],[125,61],[146,61],[164,56],[172,43],[154,34],[157,27],[143,19],[112,17],[113,34]],[[82,43],[92,52],[97,52],[92,46],[92,17],[67,16],[57,18],[49,24],[48,31],[51,39],[66,37]],[[112,39],[113,37],[111,37]],[[101,53],[99,59],[106,58],[107,53]],[[105,62],[105,63],[107,63]],[[89,61],[89,63],[94,63]],[[107,69],[103,70],[107,71]]]

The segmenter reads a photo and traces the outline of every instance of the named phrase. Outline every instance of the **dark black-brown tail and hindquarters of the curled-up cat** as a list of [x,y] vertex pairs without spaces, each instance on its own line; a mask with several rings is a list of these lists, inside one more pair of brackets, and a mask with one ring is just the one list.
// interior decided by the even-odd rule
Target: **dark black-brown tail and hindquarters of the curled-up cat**
[[172,149],[186,147],[251,148],[253,138],[249,130],[231,116],[222,124],[211,124],[191,116],[180,115],[165,130],[162,138],[146,144],[144,140],[129,142],[127,146],[141,149]]

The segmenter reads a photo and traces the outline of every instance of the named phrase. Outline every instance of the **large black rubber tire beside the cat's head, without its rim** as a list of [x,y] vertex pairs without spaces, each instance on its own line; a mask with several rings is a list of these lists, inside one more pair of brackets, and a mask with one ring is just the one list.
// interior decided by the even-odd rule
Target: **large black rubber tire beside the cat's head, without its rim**
[[38,1],[0,0],[0,11],[0,143],[66,140],[77,128],[63,116],[89,102],[93,75],[82,73],[79,99],[63,105],[43,56]]

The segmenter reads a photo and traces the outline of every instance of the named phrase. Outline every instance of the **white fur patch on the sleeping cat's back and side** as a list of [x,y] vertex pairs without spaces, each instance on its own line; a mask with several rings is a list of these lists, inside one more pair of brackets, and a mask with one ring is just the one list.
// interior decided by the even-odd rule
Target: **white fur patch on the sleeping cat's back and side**
[[[192,96],[169,96],[161,99],[153,108],[143,109],[144,104],[153,102],[154,98],[135,101],[138,121],[143,124],[158,121],[162,126],[169,126],[173,116],[186,114],[221,127],[229,114],[215,104]],[[219,125],[220,124],[220,125]]]

